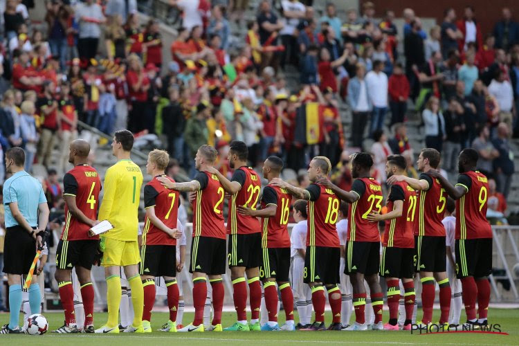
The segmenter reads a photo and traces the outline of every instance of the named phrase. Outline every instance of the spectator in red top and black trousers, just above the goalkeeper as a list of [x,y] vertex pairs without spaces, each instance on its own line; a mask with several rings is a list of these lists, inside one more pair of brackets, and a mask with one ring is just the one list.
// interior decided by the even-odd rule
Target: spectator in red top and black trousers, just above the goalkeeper
[[140,57],[132,54],[128,57],[128,62],[129,69],[126,74],[129,91],[128,129],[136,133],[146,128],[144,114],[148,98],[149,80]]

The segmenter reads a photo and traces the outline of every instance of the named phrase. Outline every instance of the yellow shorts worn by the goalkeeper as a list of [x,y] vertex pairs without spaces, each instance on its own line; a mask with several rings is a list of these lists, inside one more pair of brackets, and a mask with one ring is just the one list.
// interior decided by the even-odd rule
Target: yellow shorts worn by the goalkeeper
[[139,264],[140,254],[137,241],[104,238],[102,266],[131,266]]

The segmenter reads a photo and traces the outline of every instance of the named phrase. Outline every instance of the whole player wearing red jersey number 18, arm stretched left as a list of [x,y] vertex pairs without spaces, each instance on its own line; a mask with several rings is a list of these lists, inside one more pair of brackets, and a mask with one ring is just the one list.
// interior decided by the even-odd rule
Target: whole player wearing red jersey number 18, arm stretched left
[[340,200],[336,194],[318,181],[327,181],[331,170],[327,157],[316,156],[310,161],[308,176],[312,182],[308,188],[301,189],[274,178],[273,186],[284,189],[297,199],[305,199],[308,203],[307,251],[304,258],[304,282],[312,289],[313,310],[316,321],[302,330],[324,330],[325,295],[328,291],[333,322],[329,330],[340,330],[341,294],[337,286],[339,280],[340,246],[335,228],[338,218]]

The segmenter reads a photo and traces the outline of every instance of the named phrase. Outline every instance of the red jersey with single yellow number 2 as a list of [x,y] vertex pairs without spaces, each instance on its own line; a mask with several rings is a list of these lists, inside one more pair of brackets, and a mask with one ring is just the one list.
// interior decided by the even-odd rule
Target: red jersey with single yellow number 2
[[199,172],[195,180],[200,190],[193,201],[193,237],[226,239],[224,224],[225,191],[215,174]]

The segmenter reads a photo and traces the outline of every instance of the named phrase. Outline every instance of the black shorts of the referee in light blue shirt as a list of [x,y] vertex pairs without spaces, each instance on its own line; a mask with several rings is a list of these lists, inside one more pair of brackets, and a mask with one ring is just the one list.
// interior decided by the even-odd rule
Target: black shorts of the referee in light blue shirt
[[26,275],[36,256],[36,241],[21,226],[8,227],[3,244],[3,273]]

